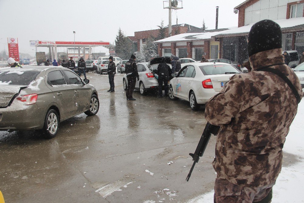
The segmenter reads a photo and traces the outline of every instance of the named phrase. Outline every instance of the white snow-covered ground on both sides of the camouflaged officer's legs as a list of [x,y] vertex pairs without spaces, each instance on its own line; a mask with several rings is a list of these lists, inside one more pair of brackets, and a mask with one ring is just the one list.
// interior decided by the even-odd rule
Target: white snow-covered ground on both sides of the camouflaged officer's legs
[[[304,99],[299,103],[298,113],[295,116],[290,131],[286,137],[283,151],[293,154],[299,162],[282,167],[281,173],[273,187],[272,202],[304,202],[302,196],[304,180]],[[212,203],[214,191],[203,194],[187,203]]]

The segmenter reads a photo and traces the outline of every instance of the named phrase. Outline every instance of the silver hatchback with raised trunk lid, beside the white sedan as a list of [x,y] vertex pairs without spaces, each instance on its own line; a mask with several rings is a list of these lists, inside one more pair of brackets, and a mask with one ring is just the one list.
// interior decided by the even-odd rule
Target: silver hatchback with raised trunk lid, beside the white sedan
[[[167,63],[170,61],[170,57],[157,57],[150,59],[149,62],[137,63],[137,70],[139,74],[139,81],[136,80],[135,89],[140,91],[141,95],[146,95],[147,91],[158,88],[158,82],[154,77],[157,70],[157,66],[161,60],[165,60]],[[171,62],[171,61],[170,61]],[[172,68],[171,64],[168,64]],[[127,89],[127,76],[123,77],[123,88]]]

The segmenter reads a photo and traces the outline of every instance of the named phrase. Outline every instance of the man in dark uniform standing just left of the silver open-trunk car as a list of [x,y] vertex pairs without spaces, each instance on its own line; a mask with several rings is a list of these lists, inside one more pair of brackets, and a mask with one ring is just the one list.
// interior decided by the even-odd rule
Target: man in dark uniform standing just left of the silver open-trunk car
[[128,80],[128,86],[126,91],[127,100],[136,100],[135,98],[133,98],[133,91],[136,84],[136,77],[137,80],[139,80],[139,75],[135,59],[136,56],[132,54],[129,61],[126,62],[126,75]]

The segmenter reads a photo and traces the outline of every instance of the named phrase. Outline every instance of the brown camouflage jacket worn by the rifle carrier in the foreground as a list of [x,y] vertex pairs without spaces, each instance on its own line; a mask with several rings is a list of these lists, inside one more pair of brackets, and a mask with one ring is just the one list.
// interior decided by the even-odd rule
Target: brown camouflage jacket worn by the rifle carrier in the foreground
[[[274,73],[255,71],[284,63],[282,49],[256,53],[252,70],[235,74],[206,103],[205,117],[221,126],[213,168],[218,177],[244,187],[273,183],[281,171],[282,148],[298,104],[290,87]],[[302,98],[298,77],[287,65],[271,66],[284,73]]]

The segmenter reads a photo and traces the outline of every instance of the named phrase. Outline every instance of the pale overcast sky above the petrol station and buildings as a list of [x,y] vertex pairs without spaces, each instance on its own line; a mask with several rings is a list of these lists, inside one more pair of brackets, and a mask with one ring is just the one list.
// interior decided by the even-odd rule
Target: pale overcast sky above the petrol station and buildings
[[[244,0],[183,0],[183,9],[172,12],[172,24],[187,23],[215,29],[216,6],[219,28],[237,26],[233,8]],[[180,4],[179,4],[180,6]],[[109,41],[119,27],[127,36],[135,31],[157,29],[161,20],[168,25],[168,9],[162,0],[0,0],[0,50],[7,52],[7,37],[18,37],[19,52],[34,55],[30,40]],[[38,51],[46,51],[38,48]],[[60,51],[60,48],[59,50]]]

